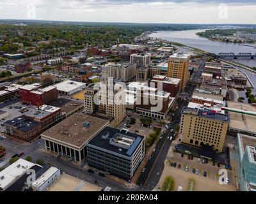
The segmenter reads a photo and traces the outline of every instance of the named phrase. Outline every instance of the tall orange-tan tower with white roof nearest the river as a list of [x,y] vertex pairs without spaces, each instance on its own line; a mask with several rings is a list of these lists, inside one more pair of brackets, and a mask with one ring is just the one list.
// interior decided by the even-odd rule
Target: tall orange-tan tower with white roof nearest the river
[[169,58],[167,77],[180,78],[180,91],[186,87],[189,80],[189,55],[175,53]]

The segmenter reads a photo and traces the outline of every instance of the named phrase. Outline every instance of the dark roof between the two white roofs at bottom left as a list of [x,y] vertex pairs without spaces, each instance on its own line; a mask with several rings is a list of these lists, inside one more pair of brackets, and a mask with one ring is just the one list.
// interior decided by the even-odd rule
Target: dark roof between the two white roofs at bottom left
[[[45,171],[49,170],[49,168],[51,168],[51,166],[48,164],[45,164],[42,167],[35,164],[35,166],[33,166],[31,169],[36,171],[36,179],[38,179],[41,175],[45,173]],[[22,191],[22,188],[25,186],[28,176],[29,175],[25,173],[22,177],[20,177],[19,180],[12,184],[12,186],[8,187],[6,191]]]

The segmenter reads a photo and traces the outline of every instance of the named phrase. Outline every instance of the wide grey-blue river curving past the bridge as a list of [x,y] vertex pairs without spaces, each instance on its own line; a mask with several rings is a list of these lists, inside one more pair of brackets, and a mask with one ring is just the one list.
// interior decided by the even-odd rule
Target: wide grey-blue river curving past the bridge
[[[211,41],[207,38],[202,38],[196,35],[196,33],[202,31],[205,31],[205,29],[189,31],[157,31],[156,33],[150,34],[150,37],[181,43],[183,45],[188,45],[189,47],[198,48],[214,54],[218,54],[220,52],[234,52],[234,54],[238,54],[239,52],[251,52],[252,54],[256,53],[256,48],[253,47],[244,46],[239,43]],[[255,44],[253,46],[256,47]],[[236,61],[251,67],[256,66],[256,59],[237,59]]]

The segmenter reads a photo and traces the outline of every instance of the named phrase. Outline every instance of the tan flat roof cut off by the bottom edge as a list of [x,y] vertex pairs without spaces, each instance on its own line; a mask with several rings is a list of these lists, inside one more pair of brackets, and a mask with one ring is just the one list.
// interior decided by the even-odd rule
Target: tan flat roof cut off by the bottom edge
[[47,191],[101,191],[101,187],[63,173]]

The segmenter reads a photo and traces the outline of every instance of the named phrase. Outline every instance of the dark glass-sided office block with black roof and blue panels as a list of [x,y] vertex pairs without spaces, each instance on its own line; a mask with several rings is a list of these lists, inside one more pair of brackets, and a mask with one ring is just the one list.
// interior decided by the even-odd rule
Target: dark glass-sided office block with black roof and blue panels
[[87,157],[89,166],[131,182],[145,157],[145,137],[106,127],[88,142]]

